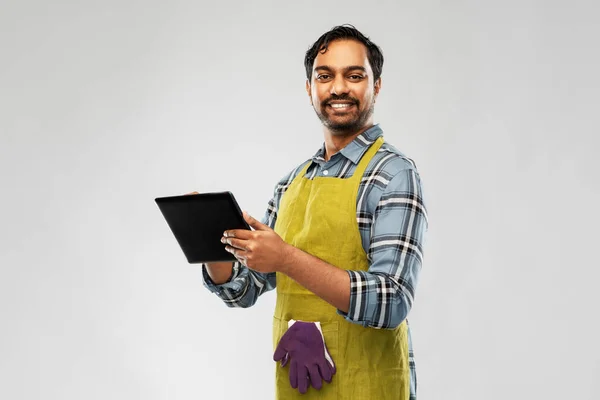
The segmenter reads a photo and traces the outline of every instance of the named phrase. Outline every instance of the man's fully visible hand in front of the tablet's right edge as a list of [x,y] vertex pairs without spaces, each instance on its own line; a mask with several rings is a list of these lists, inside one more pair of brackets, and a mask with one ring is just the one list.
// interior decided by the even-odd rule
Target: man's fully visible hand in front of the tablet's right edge
[[258,272],[276,272],[284,265],[292,246],[270,227],[244,212],[244,219],[253,230],[233,229],[223,233],[221,242],[246,267]]

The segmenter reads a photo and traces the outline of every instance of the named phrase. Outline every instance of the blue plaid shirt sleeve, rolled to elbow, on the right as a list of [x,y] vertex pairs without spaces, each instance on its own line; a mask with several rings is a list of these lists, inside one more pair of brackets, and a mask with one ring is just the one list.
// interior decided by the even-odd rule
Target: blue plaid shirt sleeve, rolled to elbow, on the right
[[369,270],[348,271],[350,308],[338,314],[372,328],[400,325],[415,298],[427,229],[419,174],[402,170],[388,183],[373,214]]

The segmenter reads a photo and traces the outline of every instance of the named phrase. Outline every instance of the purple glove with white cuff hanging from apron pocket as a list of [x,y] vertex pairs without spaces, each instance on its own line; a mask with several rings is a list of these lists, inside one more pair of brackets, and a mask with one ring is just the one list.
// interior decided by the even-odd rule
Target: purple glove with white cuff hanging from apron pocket
[[335,374],[320,327],[319,322],[294,321],[273,354],[273,360],[281,361],[282,367],[290,361],[290,384],[303,394],[309,379],[315,389],[321,389],[322,380],[331,382]]

